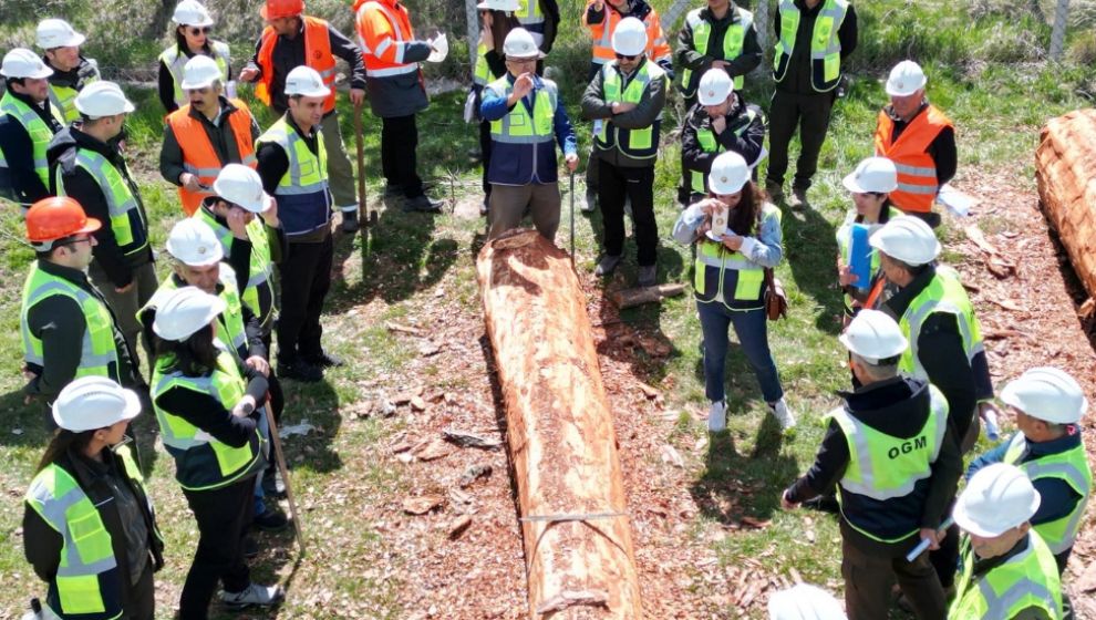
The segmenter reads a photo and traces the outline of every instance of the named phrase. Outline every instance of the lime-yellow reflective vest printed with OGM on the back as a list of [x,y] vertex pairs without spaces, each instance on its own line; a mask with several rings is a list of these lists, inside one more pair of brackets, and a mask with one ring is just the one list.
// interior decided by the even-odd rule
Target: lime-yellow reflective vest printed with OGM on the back
[[[940,455],[944,431],[948,428],[948,400],[934,385],[929,385],[929,415],[912,437],[895,437],[864,424],[845,407],[831,411],[849,447],[849,463],[838,484],[838,499],[844,493],[855,493],[886,502],[913,493],[917,483],[932,475],[932,463]],[[861,528],[856,516],[844,514],[857,531],[885,542],[897,542],[917,531],[883,539]]]

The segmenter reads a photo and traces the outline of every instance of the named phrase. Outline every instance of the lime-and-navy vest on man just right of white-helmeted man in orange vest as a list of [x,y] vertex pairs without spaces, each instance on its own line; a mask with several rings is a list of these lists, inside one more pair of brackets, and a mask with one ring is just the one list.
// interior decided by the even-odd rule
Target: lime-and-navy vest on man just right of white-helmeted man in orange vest
[[278,182],[278,216],[287,235],[301,235],[318,230],[331,219],[331,197],[328,192],[328,155],[323,136],[317,128],[313,155],[308,144],[291,127],[283,115],[259,140],[260,144],[281,146],[289,158],[289,168]]

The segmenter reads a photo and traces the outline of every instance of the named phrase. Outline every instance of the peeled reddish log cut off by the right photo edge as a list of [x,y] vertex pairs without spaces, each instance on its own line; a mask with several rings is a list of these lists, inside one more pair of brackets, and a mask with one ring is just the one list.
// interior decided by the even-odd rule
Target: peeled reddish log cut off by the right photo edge
[[1096,110],[1075,110],[1043,127],[1035,179],[1043,211],[1096,297]]

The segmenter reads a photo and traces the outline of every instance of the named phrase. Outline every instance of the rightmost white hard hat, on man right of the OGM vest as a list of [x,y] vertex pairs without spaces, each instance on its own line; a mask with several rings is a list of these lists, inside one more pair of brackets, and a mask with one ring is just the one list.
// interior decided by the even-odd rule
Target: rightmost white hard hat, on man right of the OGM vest
[[1081,385],[1056,368],[1033,368],[1001,391],[1001,401],[1053,424],[1076,424],[1088,411]]

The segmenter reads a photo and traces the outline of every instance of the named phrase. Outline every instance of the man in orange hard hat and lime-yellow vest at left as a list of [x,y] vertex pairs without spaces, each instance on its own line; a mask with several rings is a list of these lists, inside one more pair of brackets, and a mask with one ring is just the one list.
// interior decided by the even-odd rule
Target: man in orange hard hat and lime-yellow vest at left
[[[39,200],[27,211],[27,239],[38,254],[19,314],[28,399],[50,403],[80,376],[106,376],[147,394],[136,355],[87,279],[93,234],[101,227],[68,197]],[[52,417],[45,418],[52,428]]]

